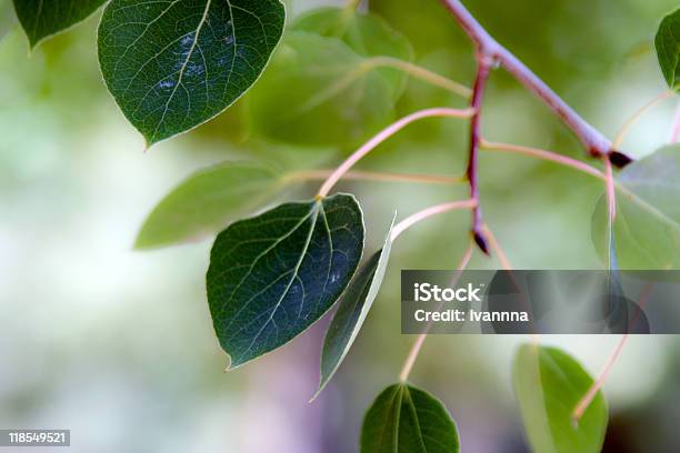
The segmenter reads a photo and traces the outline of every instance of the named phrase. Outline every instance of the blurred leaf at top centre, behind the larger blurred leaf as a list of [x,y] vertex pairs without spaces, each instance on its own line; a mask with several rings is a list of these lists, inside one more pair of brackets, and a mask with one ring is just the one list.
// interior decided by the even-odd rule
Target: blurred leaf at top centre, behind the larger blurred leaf
[[[301,16],[293,30],[309,31],[322,37],[338,38],[361,57],[390,57],[413,60],[413,48],[406,37],[373,13],[362,14],[354,8],[319,8]],[[408,76],[390,68],[377,69],[392,87],[392,98],[399,99]]]

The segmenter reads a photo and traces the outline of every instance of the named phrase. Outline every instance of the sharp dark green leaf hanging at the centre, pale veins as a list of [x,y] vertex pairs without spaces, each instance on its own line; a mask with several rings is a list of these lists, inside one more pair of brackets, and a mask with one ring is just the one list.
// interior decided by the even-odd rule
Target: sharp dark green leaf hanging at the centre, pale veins
[[321,318],[357,270],[363,235],[361,208],[348,194],[281,204],[222,231],[207,288],[231,368],[283,345]]

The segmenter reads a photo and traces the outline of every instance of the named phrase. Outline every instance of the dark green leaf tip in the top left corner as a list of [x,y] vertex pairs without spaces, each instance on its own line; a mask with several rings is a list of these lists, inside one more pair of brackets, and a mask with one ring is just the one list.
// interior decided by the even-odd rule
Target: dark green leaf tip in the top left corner
[[86,20],[106,0],[14,0],[31,49],[46,38]]

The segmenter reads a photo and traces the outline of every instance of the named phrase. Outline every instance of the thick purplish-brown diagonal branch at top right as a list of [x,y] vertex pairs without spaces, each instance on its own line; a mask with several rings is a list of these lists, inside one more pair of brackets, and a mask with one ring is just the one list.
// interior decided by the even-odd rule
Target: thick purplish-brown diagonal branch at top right
[[[484,28],[470,14],[459,0],[441,0],[458,20],[466,33],[474,42],[477,51],[498,61],[510,74],[531,92],[538,95],[571,129],[592,155],[611,154],[616,150],[611,142],[598,130],[583,120],[564,100],[536,76],[524,63],[508,49],[496,41]],[[621,164],[630,161],[617,152]]]

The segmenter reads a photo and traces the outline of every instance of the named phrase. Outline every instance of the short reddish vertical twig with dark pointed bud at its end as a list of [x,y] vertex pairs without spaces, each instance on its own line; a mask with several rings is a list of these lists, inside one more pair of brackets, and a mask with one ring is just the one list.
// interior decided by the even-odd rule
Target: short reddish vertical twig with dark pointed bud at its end
[[[492,61],[484,56],[478,56],[477,59],[477,76],[474,77],[474,87],[472,88],[472,99],[470,108],[474,113],[470,120],[470,148],[468,154],[468,182],[470,184],[470,198],[479,200],[479,182],[477,178],[477,168],[479,164],[479,144],[481,141],[481,105],[484,98],[487,81],[491,72]],[[474,242],[482,252],[489,254],[489,246],[482,232],[482,212],[479,204],[472,210],[472,236]]]

